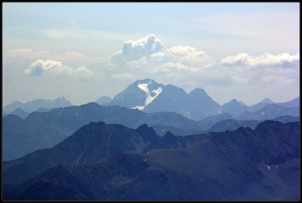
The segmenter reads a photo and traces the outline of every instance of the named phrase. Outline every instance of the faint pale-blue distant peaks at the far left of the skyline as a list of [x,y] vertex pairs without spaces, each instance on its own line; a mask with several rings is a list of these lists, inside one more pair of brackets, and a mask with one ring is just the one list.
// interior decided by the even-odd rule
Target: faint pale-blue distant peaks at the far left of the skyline
[[54,107],[67,107],[72,106],[70,101],[67,101],[64,96],[62,98],[56,98],[54,100],[44,100],[44,99],[36,99],[33,101],[29,101],[26,103],[22,103],[20,101],[14,101],[13,103],[6,105],[2,108],[2,113],[9,114],[10,112],[16,110],[17,108],[23,109],[25,112],[31,113],[37,111],[38,108],[54,108]]

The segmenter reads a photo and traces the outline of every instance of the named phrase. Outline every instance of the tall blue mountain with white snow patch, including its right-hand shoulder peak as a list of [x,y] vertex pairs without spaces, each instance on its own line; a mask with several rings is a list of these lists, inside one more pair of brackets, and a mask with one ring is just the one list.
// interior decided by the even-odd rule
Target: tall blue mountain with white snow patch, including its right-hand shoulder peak
[[135,81],[108,105],[137,108],[147,113],[173,111],[194,120],[217,115],[220,108],[203,89],[196,88],[187,94],[182,88],[158,84],[149,78]]

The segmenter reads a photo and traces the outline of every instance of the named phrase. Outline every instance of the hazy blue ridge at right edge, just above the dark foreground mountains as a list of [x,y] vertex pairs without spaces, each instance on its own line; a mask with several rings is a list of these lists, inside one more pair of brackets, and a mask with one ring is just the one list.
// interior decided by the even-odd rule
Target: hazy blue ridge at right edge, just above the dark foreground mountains
[[300,107],[282,107],[278,104],[267,104],[265,107],[255,111],[255,112],[249,112],[245,111],[243,112],[239,117],[237,117],[237,120],[258,120],[263,121],[267,119],[276,118],[279,116],[300,116]]

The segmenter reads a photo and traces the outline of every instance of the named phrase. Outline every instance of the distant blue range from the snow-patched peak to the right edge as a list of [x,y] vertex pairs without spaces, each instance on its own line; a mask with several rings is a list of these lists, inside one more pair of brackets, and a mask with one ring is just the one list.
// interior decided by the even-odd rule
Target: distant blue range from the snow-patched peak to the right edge
[[[182,88],[170,84],[162,85],[149,78],[135,81],[118,93],[112,101],[105,96],[99,99],[101,102],[97,103],[104,106],[137,108],[147,113],[173,111],[196,121],[221,113],[229,113],[236,118],[245,111],[255,112],[268,104],[275,103],[269,98],[264,98],[255,105],[247,106],[242,101],[232,99],[220,106],[207,95],[204,89],[196,88],[187,94]],[[297,97],[292,101],[277,104],[283,107],[298,107],[299,103],[300,97]]]

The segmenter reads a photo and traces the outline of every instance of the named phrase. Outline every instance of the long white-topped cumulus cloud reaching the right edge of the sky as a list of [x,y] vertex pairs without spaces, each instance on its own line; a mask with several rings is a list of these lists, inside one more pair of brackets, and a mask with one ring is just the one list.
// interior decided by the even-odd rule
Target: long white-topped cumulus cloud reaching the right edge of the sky
[[221,59],[218,67],[227,71],[236,84],[255,82],[290,84],[298,81],[300,75],[300,53],[290,55],[281,53],[273,55],[265,53],[250,56],[240,53]]

